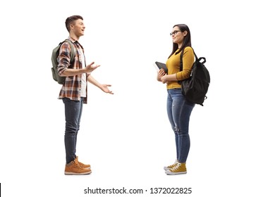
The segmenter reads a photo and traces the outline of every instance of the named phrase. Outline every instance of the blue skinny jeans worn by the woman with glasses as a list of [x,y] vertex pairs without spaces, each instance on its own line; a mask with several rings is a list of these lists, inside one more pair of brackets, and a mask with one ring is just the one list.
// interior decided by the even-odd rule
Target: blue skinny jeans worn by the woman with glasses
[[185,163],[190,149],[189,120],[195,106],[185,100],[181,89],[168,89],[167,113],[176,139],[176,156]]

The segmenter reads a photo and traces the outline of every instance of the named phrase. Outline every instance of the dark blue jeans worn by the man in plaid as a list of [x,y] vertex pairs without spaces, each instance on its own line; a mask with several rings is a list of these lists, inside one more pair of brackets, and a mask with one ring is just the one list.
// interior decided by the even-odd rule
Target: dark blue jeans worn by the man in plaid
[[82,114],[83,98],[80,101],[73,101],[70,98],[62,98],[65,105],[65,149],[66,163],[70,163],[76,158],[76,139],[80,129],[80,119]]

